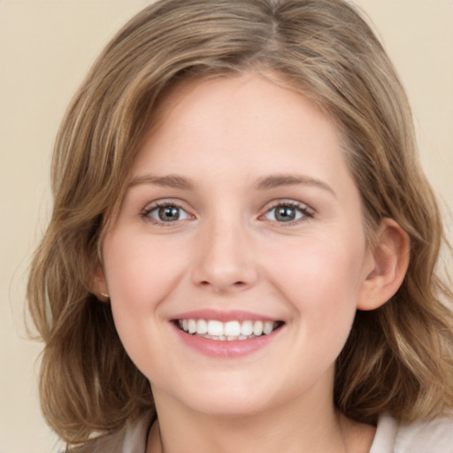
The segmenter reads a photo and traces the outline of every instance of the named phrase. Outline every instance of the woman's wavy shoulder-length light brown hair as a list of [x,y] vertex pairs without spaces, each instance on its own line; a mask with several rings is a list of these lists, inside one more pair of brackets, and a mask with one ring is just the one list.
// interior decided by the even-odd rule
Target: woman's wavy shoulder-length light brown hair
[[386,52],[342,0],[163,0],[131,19],[73,98],[52,165],[54,208],[28,301],[45,348],[42,410],[68,442],[108,434],[153,407],[108,303],[93,294],[104,227],[119,208],[157,103],[193,77],[274,74],[341,128],[369,238],[383,218],[411,241],[402,287],[358,311],[334,399],[348,417],[413,420],[453,408],[453,296],[436,268],[444,239],[418,164],[411,111]]

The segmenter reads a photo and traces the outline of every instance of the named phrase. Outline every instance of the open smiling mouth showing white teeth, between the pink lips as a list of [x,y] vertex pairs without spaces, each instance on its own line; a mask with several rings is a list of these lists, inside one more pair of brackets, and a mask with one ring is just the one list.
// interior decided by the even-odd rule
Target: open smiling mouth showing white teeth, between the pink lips
[[250,340],[269,335],[283,324],[282,321],[265,320],[222,322],[217,319],[178,319],[175,321],[175,325],[186,334],[222,342]]

